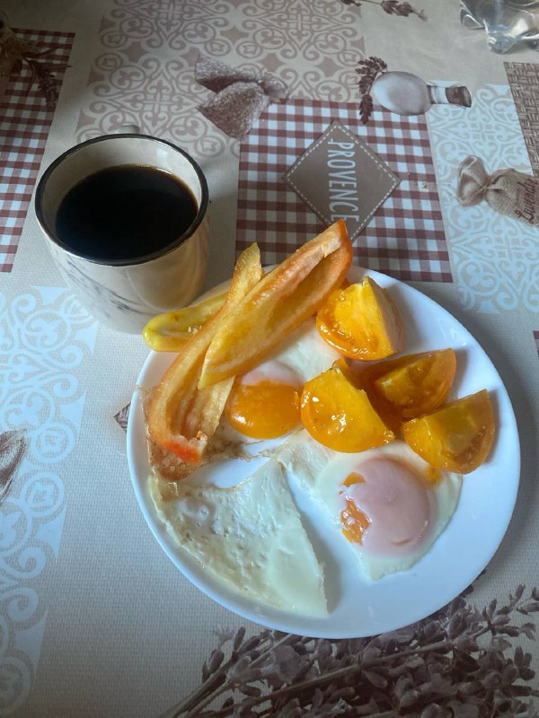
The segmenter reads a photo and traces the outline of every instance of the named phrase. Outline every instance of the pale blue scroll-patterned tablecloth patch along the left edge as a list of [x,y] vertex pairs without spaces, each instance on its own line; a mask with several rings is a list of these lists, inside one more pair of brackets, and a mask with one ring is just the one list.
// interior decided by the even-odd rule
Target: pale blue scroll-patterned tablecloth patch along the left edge
[[[28,697],[48,606],[38,582],[56,561],[66,496],[62,461],[84,412],[84,363],[97,324],[64,288],[0,293],[0,433],[21,433],[26,451],[0,505],[0,715]],[[39,377],[39,379],[36,379]]]

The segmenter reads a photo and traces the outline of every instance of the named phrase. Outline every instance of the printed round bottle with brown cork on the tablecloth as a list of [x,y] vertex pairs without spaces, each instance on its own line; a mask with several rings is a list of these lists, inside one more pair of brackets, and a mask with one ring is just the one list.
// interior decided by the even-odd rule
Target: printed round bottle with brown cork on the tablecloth
[[417,74],[398,71],[377,77],[371,94],[378,104],[398,115],[422,115],[433,105],[439,104],[472,106],[472,97],[467,87],[427,84]]

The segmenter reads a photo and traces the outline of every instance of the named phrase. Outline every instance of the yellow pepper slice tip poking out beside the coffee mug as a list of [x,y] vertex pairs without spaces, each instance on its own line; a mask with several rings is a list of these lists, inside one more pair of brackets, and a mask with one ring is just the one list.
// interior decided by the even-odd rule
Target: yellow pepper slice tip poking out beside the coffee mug
[[142,338],[155,352],[179,352],[190,337],[214,317],[225,302],[226,293],[173,311],[157,314],[142,330]]

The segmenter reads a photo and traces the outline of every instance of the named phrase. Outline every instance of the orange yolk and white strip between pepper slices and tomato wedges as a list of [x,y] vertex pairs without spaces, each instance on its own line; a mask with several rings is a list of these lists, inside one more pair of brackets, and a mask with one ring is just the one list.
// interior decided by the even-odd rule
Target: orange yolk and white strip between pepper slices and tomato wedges
[[300,423],[299,398],[305,381],[339,358],[307,320],[250,372],[237,377],[225,408],[235,431],[251,439],[275,439]]

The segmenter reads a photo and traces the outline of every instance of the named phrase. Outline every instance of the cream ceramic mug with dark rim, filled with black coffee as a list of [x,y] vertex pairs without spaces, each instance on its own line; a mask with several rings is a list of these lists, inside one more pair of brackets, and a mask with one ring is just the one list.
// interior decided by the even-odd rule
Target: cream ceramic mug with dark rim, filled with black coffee
[[35,210],[67,285],[97,319],[138,333],[189,304],[208,264],[208,184],[180,147],[100,136],[44,172]]

